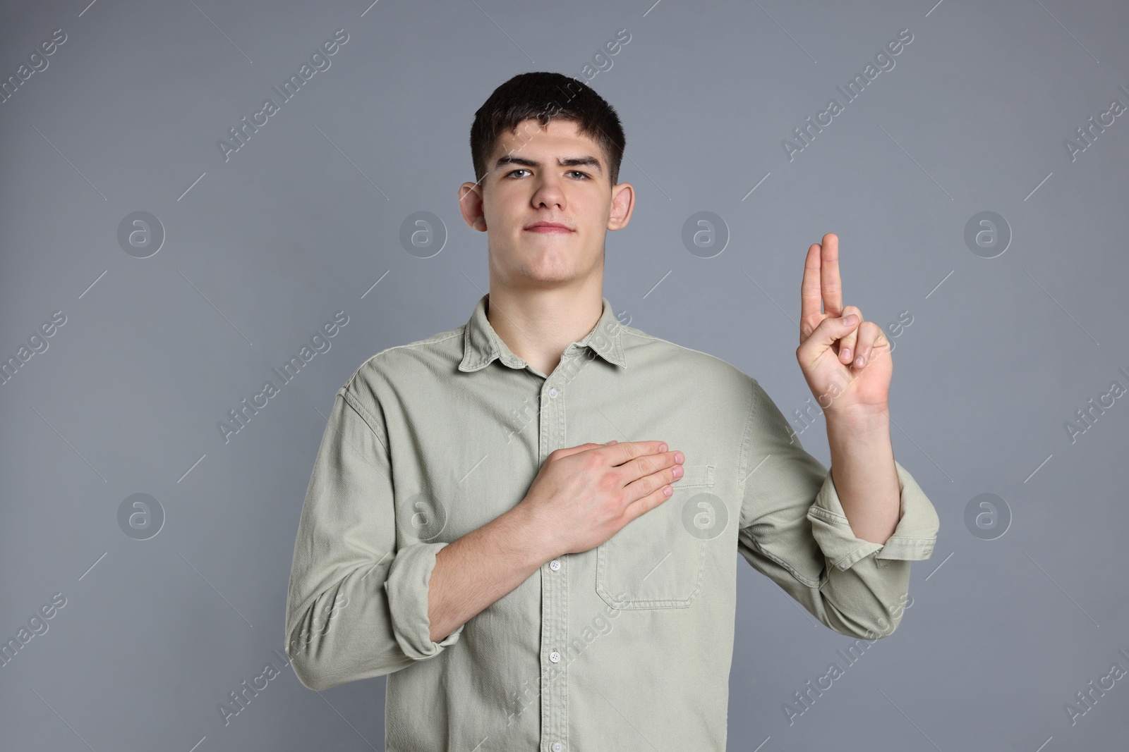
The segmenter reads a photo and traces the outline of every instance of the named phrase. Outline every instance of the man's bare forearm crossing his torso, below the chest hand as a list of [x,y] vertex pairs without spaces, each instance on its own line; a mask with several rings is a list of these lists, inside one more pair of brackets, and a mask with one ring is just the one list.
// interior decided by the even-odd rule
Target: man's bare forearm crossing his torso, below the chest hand
[[428,584],[431,639],[445,639],[551,559],[542,532],[518,505],[439,549]]

